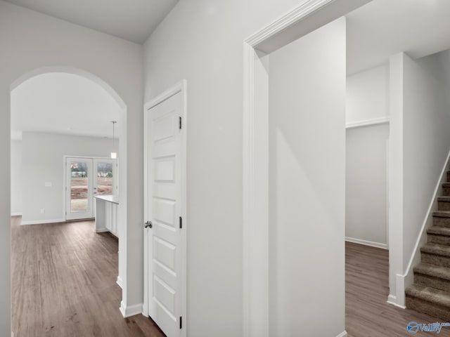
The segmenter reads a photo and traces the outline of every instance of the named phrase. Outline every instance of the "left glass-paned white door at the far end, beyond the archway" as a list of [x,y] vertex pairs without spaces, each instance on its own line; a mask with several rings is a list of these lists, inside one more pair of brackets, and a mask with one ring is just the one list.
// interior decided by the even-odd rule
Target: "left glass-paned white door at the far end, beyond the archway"
[[92,159],[65,159],[65,219],[94,218]]

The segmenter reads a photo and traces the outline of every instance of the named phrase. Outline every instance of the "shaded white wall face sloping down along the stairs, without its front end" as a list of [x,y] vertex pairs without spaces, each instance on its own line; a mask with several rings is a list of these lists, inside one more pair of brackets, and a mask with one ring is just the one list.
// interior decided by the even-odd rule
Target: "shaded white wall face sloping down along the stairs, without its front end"
[[450,149],[450,91],[440,61],[441,54],[404,59],[404,267]]

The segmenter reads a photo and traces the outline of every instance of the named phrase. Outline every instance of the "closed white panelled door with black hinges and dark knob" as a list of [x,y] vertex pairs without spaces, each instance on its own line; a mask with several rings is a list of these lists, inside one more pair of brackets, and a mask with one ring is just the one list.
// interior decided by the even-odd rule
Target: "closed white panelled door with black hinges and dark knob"
[[148,314],[167,337],[185,336],[183,113],[181,92],[146,110]]

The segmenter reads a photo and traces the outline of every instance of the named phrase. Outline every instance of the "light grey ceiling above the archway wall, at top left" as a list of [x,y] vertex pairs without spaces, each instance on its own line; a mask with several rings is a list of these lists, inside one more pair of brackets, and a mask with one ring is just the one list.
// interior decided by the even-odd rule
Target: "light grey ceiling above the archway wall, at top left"
[[143,44],[179,0],[6,1]]

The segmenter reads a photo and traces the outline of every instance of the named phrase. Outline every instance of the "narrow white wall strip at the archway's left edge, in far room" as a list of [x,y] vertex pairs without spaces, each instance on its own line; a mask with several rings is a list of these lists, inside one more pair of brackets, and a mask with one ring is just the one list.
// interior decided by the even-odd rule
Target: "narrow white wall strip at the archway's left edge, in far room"
[[22,141],[11,140],[11,214],[22,214]]

